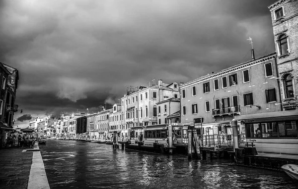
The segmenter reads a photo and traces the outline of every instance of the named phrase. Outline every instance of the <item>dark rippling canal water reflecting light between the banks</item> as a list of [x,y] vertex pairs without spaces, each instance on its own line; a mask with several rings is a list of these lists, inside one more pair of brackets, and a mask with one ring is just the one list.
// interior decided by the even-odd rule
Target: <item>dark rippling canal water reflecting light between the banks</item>
[[226,160],[188,160],[113,149],[112,145],[47,140],[39,145],[51,189],[294,189],[284,172],[236,166]]

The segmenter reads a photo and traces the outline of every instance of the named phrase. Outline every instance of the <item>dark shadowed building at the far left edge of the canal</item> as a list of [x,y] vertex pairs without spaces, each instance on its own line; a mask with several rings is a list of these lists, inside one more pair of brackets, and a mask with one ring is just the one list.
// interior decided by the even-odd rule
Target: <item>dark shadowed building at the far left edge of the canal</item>
[[18,70],[0,62],[0,148],[4,147],[6,138],[13,131],[13,115],[18,111],[15,104],[18,80]]

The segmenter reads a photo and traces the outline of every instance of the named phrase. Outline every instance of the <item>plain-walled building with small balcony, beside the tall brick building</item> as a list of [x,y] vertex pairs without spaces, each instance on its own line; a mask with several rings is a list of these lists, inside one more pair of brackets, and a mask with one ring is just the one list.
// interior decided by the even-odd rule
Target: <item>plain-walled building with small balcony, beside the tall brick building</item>
[[[203,135],[231,134],[235,115],[281,110],[275,53],[202,76],[180,87],[181,123]],[[240,124],[240,123],[239,123]],[[245,133],[244,126],[240,133]]]

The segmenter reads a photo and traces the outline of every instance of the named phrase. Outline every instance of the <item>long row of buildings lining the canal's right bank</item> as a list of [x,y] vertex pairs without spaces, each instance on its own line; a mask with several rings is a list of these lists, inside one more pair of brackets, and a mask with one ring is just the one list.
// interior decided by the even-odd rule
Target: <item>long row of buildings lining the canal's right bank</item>
[[[195,125],[201,135],[231,134],[235,118],[239,134],[247,138],[255,138],[259,128],[262,136],[296,139],[292,143],[297,147],[298,1],[278,0],[268,8],[275,52],[255,58],[251,49],[251,60],[187,83],[158,80],[156,85],[129,87],[111,109],[63,115],[53,120],[51,131],[93,139],[117,132],[125,138],[129,133],[139,136],[150,125],[179,123]],[[202,123],[195,123],[197,118]]]

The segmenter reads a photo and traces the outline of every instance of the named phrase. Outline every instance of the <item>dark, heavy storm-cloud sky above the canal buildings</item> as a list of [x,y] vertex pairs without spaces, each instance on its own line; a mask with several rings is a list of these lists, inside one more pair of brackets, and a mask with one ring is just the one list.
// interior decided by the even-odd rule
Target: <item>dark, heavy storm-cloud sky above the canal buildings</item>
[[99,111],[128,86],[188,82],[274,52],[276,0],[0,0],[0,61],[19,70],[16,125]]

